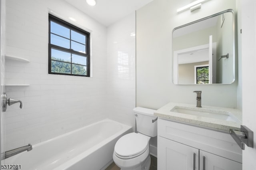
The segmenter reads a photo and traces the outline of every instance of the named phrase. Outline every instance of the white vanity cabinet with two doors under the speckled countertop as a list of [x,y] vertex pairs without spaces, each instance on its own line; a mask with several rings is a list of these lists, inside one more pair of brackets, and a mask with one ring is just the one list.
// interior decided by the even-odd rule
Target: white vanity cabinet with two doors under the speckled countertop
[[159,170],[242,170],[242,150],[228,133],[158,119]]

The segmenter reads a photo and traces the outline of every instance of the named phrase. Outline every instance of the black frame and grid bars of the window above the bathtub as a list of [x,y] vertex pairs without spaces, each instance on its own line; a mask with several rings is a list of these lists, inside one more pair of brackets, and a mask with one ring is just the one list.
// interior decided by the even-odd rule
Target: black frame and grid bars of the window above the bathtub
[[[49,39],[48,39],[48,73],[49,74],[58,74],[58,75],[74,75],[74,76],[83,76],[83,77],[90,77],[90,33],[85,31],[85,30],[82,30],[81,28],[78,28],[60,18],[57,18],[56,16],[52,15],[52,14],[49,14],[49,32],[48,32],[48,36],[49,36]],[[82,53],[82,52],[79,52],[79,51],[75,51],[73,49],[67,49],[65,47],[60,47],[58,45],[54,45],[54,44],[51,44],[51,21],[61,25],[61,26],[64,26],[68,29],[70,29],[70,32],[71,30],[75,31],[75,32],[78,32],[84,36],[86,36],[86,41],[85,41],[85,50],[86,50],[86,53]],[[71,33],[70,33],[71,34]],[[58,35],[59,36],[59,35]],[[68,38],[66,38],[68,39]],[[71,43],[71,36],[70,36],[70,43]],[[72,40],[74,41],[74,40]],[[76,41],[74,41],[76,42]],[[77,42],[79,43],[79,42]],[[70,53],[71,55],[72,54],[76,54],[76,55],[80,55],[80,56],[84,56],[86,57],[86,73],[87,75],[79,75],[79,74],[72,74],[72,65],[80,65],[80,64],[76,64],[76,63],[72,63],[72,60],[70,62],[70,69],[71,69],[71,73],[57,73],[57,72],[52,72],[52,61],[55,61],[55,60],[52,60],[52,49],[56,49],[56,50],[60,50],[60,51],[64,51],[64,52],[68,52]],[[65,61],[61,61],[61,62],[64,62],[64,63],[69,63],[69,62],[65,62]],[[85,65],[82,65],[82,66],[85,66]]]

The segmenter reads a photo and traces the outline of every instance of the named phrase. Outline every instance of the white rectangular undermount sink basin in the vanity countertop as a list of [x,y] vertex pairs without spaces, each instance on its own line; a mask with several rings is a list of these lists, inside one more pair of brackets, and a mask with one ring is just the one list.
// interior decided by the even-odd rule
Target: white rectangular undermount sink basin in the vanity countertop
[[213,119],[220,119],[225,121],[240,122],[236,117],[234,117],[230,112],[218,111],[212,109],[204,108],[190,108],[190,107],[180,107],[175,106],[171,112],[182,113],[187,115],[194,115],[197,117],[207,117]]

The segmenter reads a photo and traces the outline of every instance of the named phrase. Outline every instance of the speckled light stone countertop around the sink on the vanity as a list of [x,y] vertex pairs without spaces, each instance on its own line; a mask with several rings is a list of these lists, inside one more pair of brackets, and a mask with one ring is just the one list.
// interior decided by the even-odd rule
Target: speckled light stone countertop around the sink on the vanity
[[[232,119],[218,119],[213,117],[204,117],[200,115],[190,115],[184,113],[173,112],[174,108],[178,109],[190,109],[193,111],[207,111],[210,113],[215,113],[216,115],[230,115]],[[210,128],[213,130],[218,130],[222,132],[228,132],[229,129],[240,129],[242,124],[242,112],[238,109],[225,108],[225,107],[212,107],[212,106],[202,106],[196,107],[191,104],[184,103],[168,103],[158,109],[155,113],[155,116],[163,119],[170,119],[170,121],[178,121],[185,124],[196,125],[199,127]]]

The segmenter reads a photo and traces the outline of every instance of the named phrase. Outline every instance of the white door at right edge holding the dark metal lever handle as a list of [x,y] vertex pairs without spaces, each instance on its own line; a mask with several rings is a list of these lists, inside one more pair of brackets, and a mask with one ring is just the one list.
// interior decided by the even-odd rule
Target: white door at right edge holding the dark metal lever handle
[[245,146],[243,150],[243,170],[256,169],[256,1],[240,0],[241,43],[242,43],[242,108],[243,125],[254,132],[254,148]]

